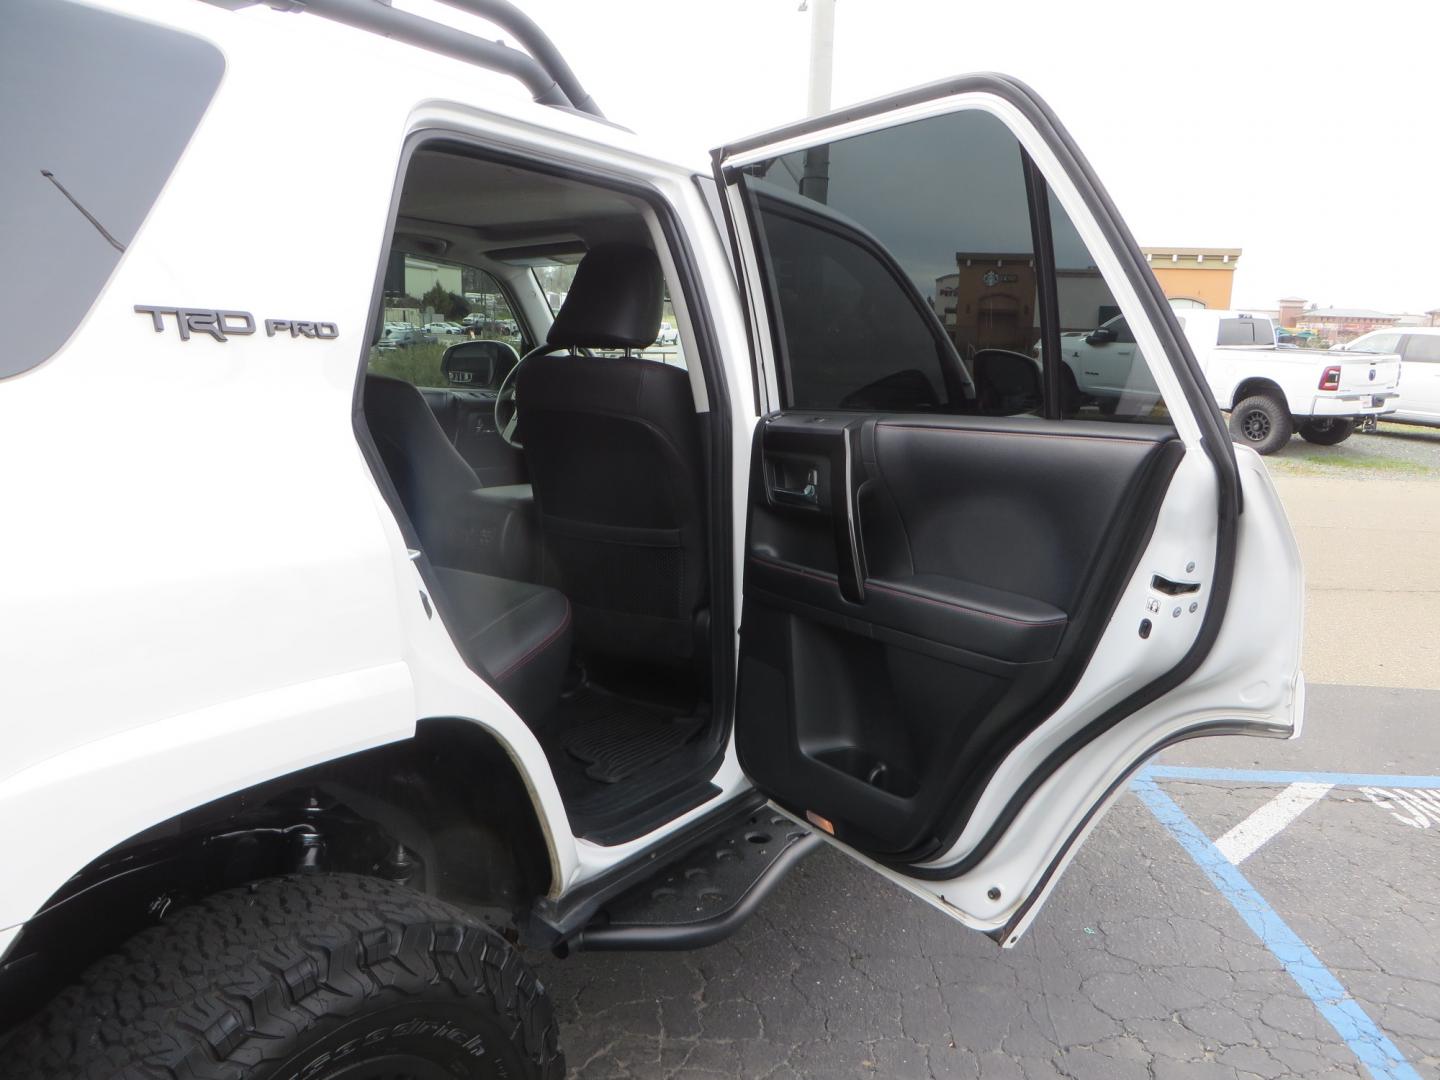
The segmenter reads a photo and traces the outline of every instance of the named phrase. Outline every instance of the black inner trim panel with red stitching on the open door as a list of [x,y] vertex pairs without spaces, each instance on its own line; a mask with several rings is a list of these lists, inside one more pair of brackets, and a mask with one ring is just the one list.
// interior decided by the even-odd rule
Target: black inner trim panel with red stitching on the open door
[[[746,770],[874,854],[937,854],[958,824],[940,818],[994,757],[995,733],[1021,737],[1107,622],[1103,582],[1129,573],[1181,454],[1164,428],[762,423],[740,645]],[[831,482],[845,459],[848,478]],[[818,481],[811,500],[786,494],[796,475]],[[841,590],[850,566],[857,599]]]

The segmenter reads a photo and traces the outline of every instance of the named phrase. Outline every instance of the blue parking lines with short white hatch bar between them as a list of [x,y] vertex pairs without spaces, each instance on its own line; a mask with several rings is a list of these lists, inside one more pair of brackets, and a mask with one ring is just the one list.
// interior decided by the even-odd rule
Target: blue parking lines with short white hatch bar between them
[[[1200,827],[1189,819],[1189,815],[1187,815],[1169,795],[1161,791],[1158,780],[1166,779],[1225,783],[1283,783],[1286,785],[1286,792],[1282,792],[1280,796],[1276,798],[1279,799],[1287,792],[1290,793],[1290,798],[1277,809],[1272,811],[1270,815],[1257,821],[1250,831],[1240,832],[1244,825],[1256,821],[1256,815],[1261,814],[1267,806],[1272,806],[1276,799],[1272,799],[1266,804],[1266,806],[1261,806],[1260,811],[1256,811],[1256,814],[1251,814],[1244,822],[1225,834],[1225,837],[1237,834],[1236,840],[1230,844],[1230,854],[1238,854],[1240,858],[1231,858],[1230,854],[1221,851],[1217,842],[1211,841],[1210,837],[1207,837]],[[1377,783],[1377,780],[1380,780],[1380,783]],[[1417,780],[1423,783],[1416,783]],[[1309,786],[1299,792],[1292,792],[1292,785]],[[1156,821],[1159,821],[1171,832],[1171,835],[1175,837],[1185,852],[1195,861],[1195,865],[1198,865],[1205,877],[1210,878],[1211,884],[1220,890],[1220,894],[1230,901],[1231,907],[1236,909],[1244,923],[1274,955],[1290,978],[1295,979],[1300,991],[1315,1004],[1319,1014],[1332,1028],[1335,1028],[1335,1032],[1351,1048],[1351,1053],[1354,1053],[1361,1064],[1365,1066],[1365,1070],[1375,1077],[1375,1080],[1420,1080],[1420,1074],[1405,1060],[1405,1056],[1400,1051],[1400,1048],[1380,1030],[1359,1002],[1351,996],[1349,991],[1346,991],[1341,981],[1335,978],[1333,972],[1331,972],[1331,969],[1320,962],[1315,952],[1303,940],[1300,940],[1300,936],[1290,929],[1289,923],[1286,923],[1284,919],[1282,919],[1280,914],[1270,906],[1270,903],[1260,896],[1238,867],[1238,863],[1244,858],[1244,855],[1251,854],[1260,847],[1260,844],[1280,832],[1284,825],[1295,821],[1308,806],[1323,798],[1325,793],[1335,786],[1405,786],[1440,789],[1440,778],[1375,776],[1361,773],[1300,773],[1250,769],[1195,769],[1153,765],[1142,769],[1140,773],[1130,780],[1130,789],[1139,796],[1140,802],[1143,802],[1146,808],[1149,808],[1151,814],[1155,815]],[[1316,788],[1323,788],[1325,791],[1306,802],[1305,799],[1308,795],[1313,793]],[[1302,802],[1303,805],[1300,805]],[[1299,806],[1299,809],[1296,809],[1296,806]],[[1280,821],[1282,818],[1284,819]],[[1266,829],[1276,821],[1280,821],[1280,824],[1273,828],[1269,835],[1264,835]],[[1261,835],[1263,840],[1256,842],[1250,851],[1244,851],[1248,844]]]

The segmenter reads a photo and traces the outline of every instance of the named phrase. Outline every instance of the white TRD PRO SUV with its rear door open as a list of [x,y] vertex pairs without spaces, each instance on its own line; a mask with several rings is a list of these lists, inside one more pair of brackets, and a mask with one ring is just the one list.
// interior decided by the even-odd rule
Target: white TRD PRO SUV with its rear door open
[[[1299,732],[1264,464],[1014,79],[677,161],[505,3],[531,53],[359,0],[4,7],[7,220],[85,238],[0,245],[4,1080],[557,1080],[521,942],[707,946],[824,844],[1012,946],[1153,755]],[[1025,252],[966,281],[1057,340],[1035,220],[1156,343],[1146,423],[1037,405],[1058,350],[966,370],[922,292]],[[543,344],[369,370],[410,249]],[[687,367],[635,354],[667,295]]]

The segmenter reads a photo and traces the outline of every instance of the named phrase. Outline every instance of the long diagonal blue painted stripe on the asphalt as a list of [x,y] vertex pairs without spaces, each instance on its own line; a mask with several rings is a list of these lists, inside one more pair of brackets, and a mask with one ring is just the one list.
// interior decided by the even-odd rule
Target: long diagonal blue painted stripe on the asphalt
[[[1156,766],[1152,772],[1161,773],[1162,770]],[[1215,770],[1201,769],[1198,772]],[[1243,773],[1244,770],[1230,769],[1221,772]],[[1310,779],[1310,773],[1267,775],[1293,775]],[[1323,776],[1325,773],[1320,775]],[[1185,776],[1176,779],[1211,778]],[[1155,779],[1139,776],[1130,782],[1130,788],[1149,806],[1159,822],[1171,831],[1171,835],[1179,841],[1179,845],[1189,852],[1195,864],[1205,871],[1205,877],[1234,906],[1256,937],[1284,965],[1290,978],[1315,1002],[1315,1008],[1335,1028],[1335,1032],[1345,1040],[1345,1044],[1354,1051],[1369,1074],[1375,1080],[1420,1080],[1420,1074],[1410,1067],[1400,1048],[1385,1038],[1385,1034],[1375,1025],[1375,1021],[1367,1015],[1365,1009],[1349,995],[1339,979],[1331,973],[1331,969],[1320,963],[1319,958],[1310,952],[1310,948],[1300,940],[1295,930],[1266,903],[1266,899],[1256,891],[1254,886],[1246,880],[1246,876],[1220,854],[1220,850],[1210,841],[1210,837],[1200,831],[1185,811],[1159,789]]]

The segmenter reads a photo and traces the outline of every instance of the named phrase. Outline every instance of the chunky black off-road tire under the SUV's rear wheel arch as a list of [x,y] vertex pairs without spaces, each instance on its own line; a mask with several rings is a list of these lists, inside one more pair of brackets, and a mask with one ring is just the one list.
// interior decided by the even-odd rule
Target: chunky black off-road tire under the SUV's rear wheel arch
[[6,1080],[559,1080],[544,988],[464,912],[317,874],[184,907],[0,1050]]

